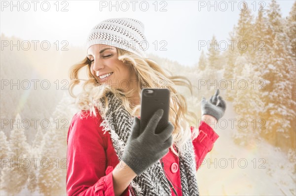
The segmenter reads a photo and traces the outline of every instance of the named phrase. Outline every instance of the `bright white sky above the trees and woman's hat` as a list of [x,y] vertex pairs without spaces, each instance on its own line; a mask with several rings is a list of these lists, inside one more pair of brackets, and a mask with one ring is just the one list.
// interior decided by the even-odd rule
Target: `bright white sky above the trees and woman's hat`
[[[246,2],[250,9],[257,12],[259,2],[262,1]],[[267,7],[270,1],[264,2]],[[288,16],[294,0],[277,2],[282,16]],[[228,40],[228,33],[237,24],[239,6],[242,9],[243,3],[235,0],[37,0],[34,4],[30,0],[1,0],[0,32],[7,36],[14,35],[24,40],[40,42],[58,40],[61,43],[67,40],[69,45],[83,47],[90,29],[102,20],[130,17],[144,23],[149,43],[148,53],[167,57],[184,65],[193,65],[198,62],[201,53],[198,43],[211,40],[213,34],[218,42]],[[48,5],[49,10],[43,11]],[[61,11],[62,9],[68,11]],[[167,50],[163,51],[161,48]],[[207,50],[207,47],[201,49]]]

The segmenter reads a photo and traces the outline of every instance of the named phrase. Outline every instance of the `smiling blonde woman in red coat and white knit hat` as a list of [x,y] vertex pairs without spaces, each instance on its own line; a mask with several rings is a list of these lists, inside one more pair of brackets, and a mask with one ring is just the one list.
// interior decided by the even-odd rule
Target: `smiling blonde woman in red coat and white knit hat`
[[[67,195],[199,195],[196,170],[219,137],[206,122],[222,117],[225,102],[219,90],[209,102],[203,98],[199,130],[190,127],[197,117],[176,91],[177,85],[191,90],[190,82],[146,58],[145,42],[143,24],[130,18],[105,20],[89,33],[87,57],[70,71],[72,96],[83,67],[88,80],[74,96],[81,111],[68,132]],[[155,126],[139,133],[145,87],[171,92],[170,122],[157,135]],[[157,123],[162,112],[149,122]]]

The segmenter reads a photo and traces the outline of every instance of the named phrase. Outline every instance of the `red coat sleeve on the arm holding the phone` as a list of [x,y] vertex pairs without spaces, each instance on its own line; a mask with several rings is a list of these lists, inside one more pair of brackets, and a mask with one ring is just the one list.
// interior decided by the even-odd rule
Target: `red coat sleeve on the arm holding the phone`
[[100,123],[101,116],[81,119],[76,113],[72,119],[67,138],[66,191],[69,196],[114,195],[113,167],[106,167],[106,141]]

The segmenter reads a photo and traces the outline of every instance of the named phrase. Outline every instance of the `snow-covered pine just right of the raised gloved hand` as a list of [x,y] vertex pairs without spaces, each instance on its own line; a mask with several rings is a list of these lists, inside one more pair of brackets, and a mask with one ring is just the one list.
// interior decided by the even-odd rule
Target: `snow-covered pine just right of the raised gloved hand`
[[264,109],[264,103],[260,99],[260,73],[254,71],[252,63],[248,60],[242,66],[238,81],[245,80],[248,83],[240,83],[239,88],[236,89],[233,108],[237,113],[237,123],[235,123],[237,132],[234,134],[234,139],[240,144],[256,145],[260,140],[261,131],[266,129],[265,121],[260,119],[260,112]]

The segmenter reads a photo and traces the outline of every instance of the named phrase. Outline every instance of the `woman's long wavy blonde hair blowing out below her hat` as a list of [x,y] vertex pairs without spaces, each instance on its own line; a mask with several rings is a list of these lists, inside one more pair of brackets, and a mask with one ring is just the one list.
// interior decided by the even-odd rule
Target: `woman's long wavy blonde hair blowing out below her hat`
[[[173,144],[179,149],[177,152],[173,145],[170,147],[174,154],[179,156],[183,148],[187,148],[186,141],[188,139],[194,140],[198,135],[198,130],[193,129],[191,134],[189,124],[197,127],[197,116],[194,112],[189,112],[185,97],[178,93],[176,86],[185,86],[190,90],[192,96],[191,82],[184,76],[173,76],[171,72],[161,68],[156,62],[149,58],[143,58],[129,51],[116,48],[118,59],[123,61],[126,65],[130,66],[136,72],[137,80],[139,81],[138,89],[143,88],[168,88],[170,90],[170,114],[169,121],[174,125],[173,131]],[[82,92],[74,95],[74,87],[80,83],[82,79],[78,79],[79,71],[87,66],[88,79],[84,80],[82,84]],[[90,71],[91,61],[85,57],[81,62],[73,65],[70,69],[69,92],[75,98],[75,105],[82,111],[90,111],[91,115],[96,116],[96,107],[98,107],[98,100],[103,98],[105,106],[100,110],[102,117],[105,117],[108,111],[107,92],[112,92],[117,98],[122,101],[122,104],[131,116],[140,116],[140,105],[134,105],[129,101],[129,98],[135,93],[135,89],[130,91],[122,91],[115,89],[109,85],[100,84],[95,79]],[[165,82],[165,85],[163,84]],[[137,88],[136,88],[137,89]],[[138,92],[139,98],[141,97],[141,90]]]

